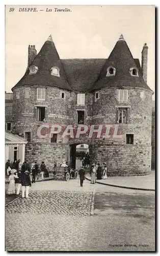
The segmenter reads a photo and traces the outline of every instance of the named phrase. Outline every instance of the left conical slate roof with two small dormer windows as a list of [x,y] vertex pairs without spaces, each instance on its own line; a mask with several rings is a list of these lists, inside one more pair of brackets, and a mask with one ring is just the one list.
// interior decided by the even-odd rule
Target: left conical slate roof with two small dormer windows
[[[30,70],[26,70],[24,76],[13,88],[29,85],[51,86],[70,91],[72,90],[51,35],[49,35],[48,39],[45,41],[40,52],[31,63],[31,66],[36,66],[38,68],[37,73],[29,74]],[[60,77],[51,75],[50,70],[53,67],[59,68]]]

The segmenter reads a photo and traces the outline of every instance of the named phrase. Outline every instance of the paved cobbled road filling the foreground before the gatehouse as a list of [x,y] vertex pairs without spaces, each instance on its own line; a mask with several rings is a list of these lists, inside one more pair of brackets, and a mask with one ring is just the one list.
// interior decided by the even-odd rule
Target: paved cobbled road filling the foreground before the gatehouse
[[154,192],[37,182],[29,199],[6,202],[6,249],[154,251]]

